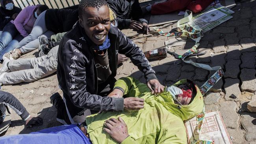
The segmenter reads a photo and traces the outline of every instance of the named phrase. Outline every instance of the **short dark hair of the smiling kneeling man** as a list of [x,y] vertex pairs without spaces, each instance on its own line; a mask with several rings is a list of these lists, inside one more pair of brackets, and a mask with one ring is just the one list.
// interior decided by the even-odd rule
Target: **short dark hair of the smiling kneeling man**
[[81,0],[78,6],[79,15],[82,16],[83,9],[86,7],[95,7],[99,9],[102,6],[108,6],[106,0]]

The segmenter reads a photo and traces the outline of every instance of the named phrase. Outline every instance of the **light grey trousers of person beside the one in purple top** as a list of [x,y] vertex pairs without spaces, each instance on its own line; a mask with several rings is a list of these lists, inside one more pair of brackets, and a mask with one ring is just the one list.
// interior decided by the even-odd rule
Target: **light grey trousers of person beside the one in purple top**
[[16,48],[20,48],[20,51],[22,54],[25,54],[27,52],[31,52],[32,50],[35,50],[39,47],[39,37],[41,35],[46,35],[46,37],[50,37],[51,35],[54,35],[52,31],[48,31],[45,24],[45,12],[41,13],[38,18],[35,20],[35,24],[33,26],[33,29],[31,33],[22,39],[19,44],[16,46]]

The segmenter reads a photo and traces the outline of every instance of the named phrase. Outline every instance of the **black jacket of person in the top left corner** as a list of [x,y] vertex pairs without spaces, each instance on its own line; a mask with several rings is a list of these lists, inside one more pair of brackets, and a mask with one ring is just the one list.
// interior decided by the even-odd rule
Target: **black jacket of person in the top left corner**
[[19,7],[13,6],[12,10],[8,10],[8,9],[6,9],[6,6],[5,6],[6,0],[0,0],[0,3],[1,3],[1,7],[0,7],[0,31],[2,31],[4,29],[4,26],[6,26],[6,24],[8,22],[13,20],[11,18],[13,16],[13,14],[20,13],[21,9]]

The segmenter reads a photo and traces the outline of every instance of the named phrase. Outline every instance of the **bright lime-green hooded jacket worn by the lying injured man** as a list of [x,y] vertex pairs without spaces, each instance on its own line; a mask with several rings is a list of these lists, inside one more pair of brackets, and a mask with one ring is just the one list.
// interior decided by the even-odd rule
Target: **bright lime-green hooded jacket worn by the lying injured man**
[[[176,84],[184,83],[186,79]],[[104,121],[121,118],[128,127],[129,137],[121,144],[186,144],[187,135],[184,120],[202,112],[203,97],[198,87],[197,94],[189,105],[178,106],[169,92],[152,95],[147,85],[127,77],[117,80],[115,88],[124,91],[124,97],[144,98],[144,108],[139,111],[103,112],[87,116],[87,132],[93,144],[116,144],[103,131]],[[180,109],[178,107],[181,107]]]

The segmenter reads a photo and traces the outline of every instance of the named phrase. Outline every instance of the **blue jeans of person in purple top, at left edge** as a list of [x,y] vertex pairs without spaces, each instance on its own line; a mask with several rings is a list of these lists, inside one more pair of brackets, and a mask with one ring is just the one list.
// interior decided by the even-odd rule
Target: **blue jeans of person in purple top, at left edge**
[[[14,41],[12,41],[13,39]],[[22,39],[23,37],[19,34],[19,31],[16,29],[15,25],[11,22],[7,23],[6,26],[4,26],[2,35],[0,35],[0,60],[2,60],[2,55],[13,50],[17,46],[17,41],[19,43],[19,41]],[[5,52],[4,54],[2,54],[3,50]]]

